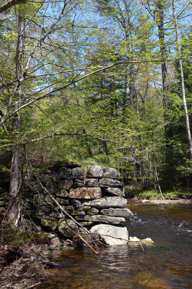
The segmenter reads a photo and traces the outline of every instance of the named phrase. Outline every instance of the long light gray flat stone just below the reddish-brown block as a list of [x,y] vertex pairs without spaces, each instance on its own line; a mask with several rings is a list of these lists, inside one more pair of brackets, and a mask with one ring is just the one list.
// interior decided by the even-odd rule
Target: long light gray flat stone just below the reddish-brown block
[[96,208],[125,208],[127,200],[120,197],[103,197],[97,200],[84,201],[84,206],[91,206]]

